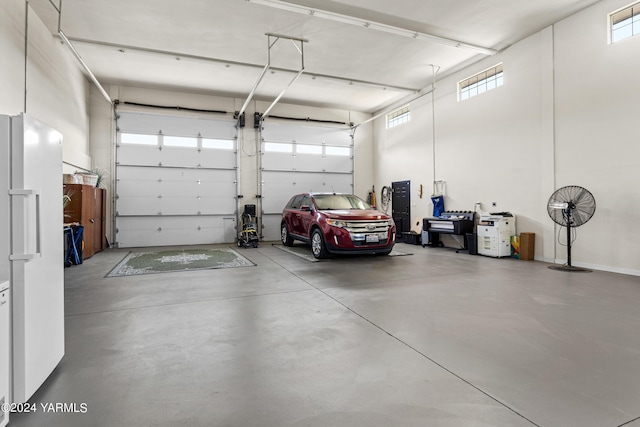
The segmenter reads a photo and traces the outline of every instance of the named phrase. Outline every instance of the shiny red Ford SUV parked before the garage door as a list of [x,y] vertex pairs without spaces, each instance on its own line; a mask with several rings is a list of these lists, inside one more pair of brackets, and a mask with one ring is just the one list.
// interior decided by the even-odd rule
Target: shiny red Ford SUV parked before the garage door
[[282,211],[280,236],[311,243],[316,258],[330,253],[388,255],[396,240],[393,219],[353,194],[304,193],[293,196]]

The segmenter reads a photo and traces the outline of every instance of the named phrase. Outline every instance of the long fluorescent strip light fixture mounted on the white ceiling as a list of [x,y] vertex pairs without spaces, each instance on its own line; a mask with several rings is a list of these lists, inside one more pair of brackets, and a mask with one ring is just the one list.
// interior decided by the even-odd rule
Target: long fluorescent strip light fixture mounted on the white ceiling
[[246,0],[249,3],[255,3],[262,6],[272,7],[274,9],[286,10],[288,12],[300,13],[307,16],[313,16],[322,19],[328,19],[335,22],[341,22],[343,24],[357,25],[359,27],[370,28],[376,31],[382,31],[389,34],[395,34],[402,37],[412,38],[416,40],[425,40],[433,43],[439,43],[446,46],[456,47],[460,49],[469,49],[483,55],[495,55],[498,53],[495,49],[489,49],[482,46],[476,46],[469,43],[464,43],[459,40],[448,39],[446,37],[440,37],[433,34],[421,33],[419,31],[412,31],[406,28],[395,27],[392,25],[382,24],[380,22],[367,21],[365,19],[355,18],[349,15],[342,15],[340,13],[329,12],[321,9],[314,9],[307,6],[300,6],[293,3],[284,2],[281,0]]

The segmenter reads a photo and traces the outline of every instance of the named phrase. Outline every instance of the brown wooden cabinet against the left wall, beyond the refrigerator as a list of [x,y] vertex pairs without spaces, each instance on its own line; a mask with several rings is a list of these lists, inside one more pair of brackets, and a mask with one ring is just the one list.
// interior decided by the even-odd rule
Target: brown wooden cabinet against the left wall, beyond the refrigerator
[[64,222],[77,222],[84,227],[82,259],[105,248],[105,193],[90,185],[64,184],[64,194],[71,197],[64,209]]

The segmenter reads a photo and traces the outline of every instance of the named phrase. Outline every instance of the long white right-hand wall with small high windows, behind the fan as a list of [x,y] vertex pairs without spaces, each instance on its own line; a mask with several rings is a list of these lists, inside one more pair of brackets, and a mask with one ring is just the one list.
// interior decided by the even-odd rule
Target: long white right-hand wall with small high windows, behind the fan
[[[430,96],[412,103],[407,125],[386,130],[377,120],[377,185],[411,180],[416,224],[432,210],[416,184],[430,193],[434,179],[445,180],[448,210],[481,202],[514,213],[518,233],[536,233],[536,259],[551,262],[565,262],[566,249],[548,198],[584,186],[598,208],[577,229],[573,264],[640,274],[640,37],[607,44],[607,14],[625,5],[602,1],[440,79],[434,106]],[[458,102],[458,81],[500,62],[504,86]]]

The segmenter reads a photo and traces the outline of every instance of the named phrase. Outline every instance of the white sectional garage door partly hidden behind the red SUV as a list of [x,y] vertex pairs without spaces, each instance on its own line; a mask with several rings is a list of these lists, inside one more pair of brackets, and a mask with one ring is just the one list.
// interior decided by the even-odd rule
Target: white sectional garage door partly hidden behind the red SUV
[[282,208],[304,192],[353,192],[348,128],[266,121],[262,129],[262,235],[280,239]]

